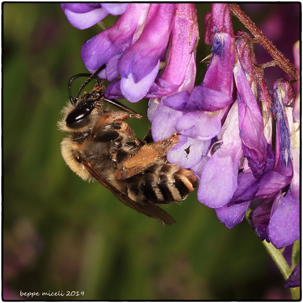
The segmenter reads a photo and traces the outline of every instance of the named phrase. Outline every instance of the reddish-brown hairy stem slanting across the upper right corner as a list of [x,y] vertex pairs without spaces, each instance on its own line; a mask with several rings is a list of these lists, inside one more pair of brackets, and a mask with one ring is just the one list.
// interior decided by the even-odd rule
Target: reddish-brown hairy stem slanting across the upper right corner
[[234,3],[229,4],[231,12],[239,19],[239,21],[255,36],[258,43],[260,43],[277,61],[277,65],[282,68],[292,79],[297,79],[295,67],[289,62],[287,58],[275,47],[275,45],[262,33],[262,31],[255,25],[254,22],[241,10],[241,8]]

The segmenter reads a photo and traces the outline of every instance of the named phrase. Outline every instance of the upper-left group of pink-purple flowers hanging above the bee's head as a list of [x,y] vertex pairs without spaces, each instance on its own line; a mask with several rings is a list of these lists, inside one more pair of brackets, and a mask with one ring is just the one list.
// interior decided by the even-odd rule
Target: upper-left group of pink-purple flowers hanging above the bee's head
[[[82,61],[90,72],[106,63],[98,76],[115,80],[105,92],[107,98],[137,102],[143,97],[170,95],[183,84],[184,89],[190,89],[188,83],[184,83],[188,77],[192,78],[193,87],[198,33],[193,4],[66,3],[62,9],[78,28],[87,28],[102,20],[103,12],[118,14],[125,10],[112,27],[86,41],[81,49]],[[89,13],[94,17],[85,16]]]

